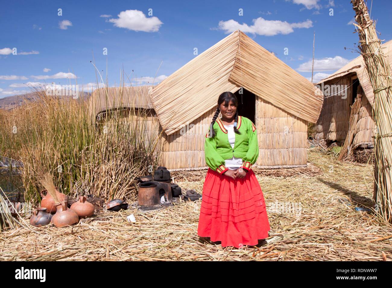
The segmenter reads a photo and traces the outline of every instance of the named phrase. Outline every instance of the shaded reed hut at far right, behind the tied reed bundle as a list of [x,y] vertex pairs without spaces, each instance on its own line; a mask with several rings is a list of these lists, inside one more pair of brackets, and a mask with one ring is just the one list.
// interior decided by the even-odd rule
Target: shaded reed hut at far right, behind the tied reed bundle
[[[381,45],[381,49],[392,65],[392,40]],[[359,147],[372,148],[374,92],[363,57],[358,56],[316,85],[324,92],[324,103],[316,123],[315,138],[327,144],[344,143],[347,139],[350,143],[345,146],[349,153]],[[344,93],[338,91],[342,87],[347,89]]]

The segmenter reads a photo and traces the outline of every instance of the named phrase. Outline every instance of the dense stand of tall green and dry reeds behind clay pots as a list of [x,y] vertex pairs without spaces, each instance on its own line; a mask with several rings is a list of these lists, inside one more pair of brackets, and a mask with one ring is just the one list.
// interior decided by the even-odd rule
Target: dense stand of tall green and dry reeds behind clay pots
[[[45,172],[70,197],[134,197],[136,178],[156,168],[160,156],[159,128],[151,133],[145,125],[149,111],[132,105],[108,110],[95,123],[84,98],[59,99],[44,89],[34,93],[37,101],[0,112],[0,155],[23,162],[25,201],[40,200],[37,177]],[[107,95],[107,89],[101,93]]]

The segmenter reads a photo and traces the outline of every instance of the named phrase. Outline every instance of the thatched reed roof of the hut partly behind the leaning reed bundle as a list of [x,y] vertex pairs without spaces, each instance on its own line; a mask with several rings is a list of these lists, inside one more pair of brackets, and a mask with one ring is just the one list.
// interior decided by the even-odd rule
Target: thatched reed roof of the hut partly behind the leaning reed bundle
[[[392,40],[385,42],[381,45],[381,49],[383,49],[384,55],[388,59],[389,65],[392,66]],[[327,82],[331,80],[337,80],[337,78],[346,76],[348,74],[356,73],[358,76],[359,83],[361,83],[362,89],[365,92],[365,96],[368,99],[369,103],[373,106],[374,103],[374,92],[372,83],[370,83],[368,72],[366,70],[365,62],[363,61],[362,55],[358,56],[351,62],[347,63],[343,67],[341,67],[334,74],[328,76],[327,78],[321,80],[317,84],[322,82]]]

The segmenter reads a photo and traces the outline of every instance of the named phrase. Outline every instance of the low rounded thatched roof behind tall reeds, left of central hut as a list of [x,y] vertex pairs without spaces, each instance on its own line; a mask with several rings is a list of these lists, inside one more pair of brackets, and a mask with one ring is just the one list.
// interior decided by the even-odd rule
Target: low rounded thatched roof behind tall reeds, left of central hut
[[118,108],[153,109],[149,97],[152,86],[109,87],[96,89],[89,99],[91,113],[96,116],[100,112]]

